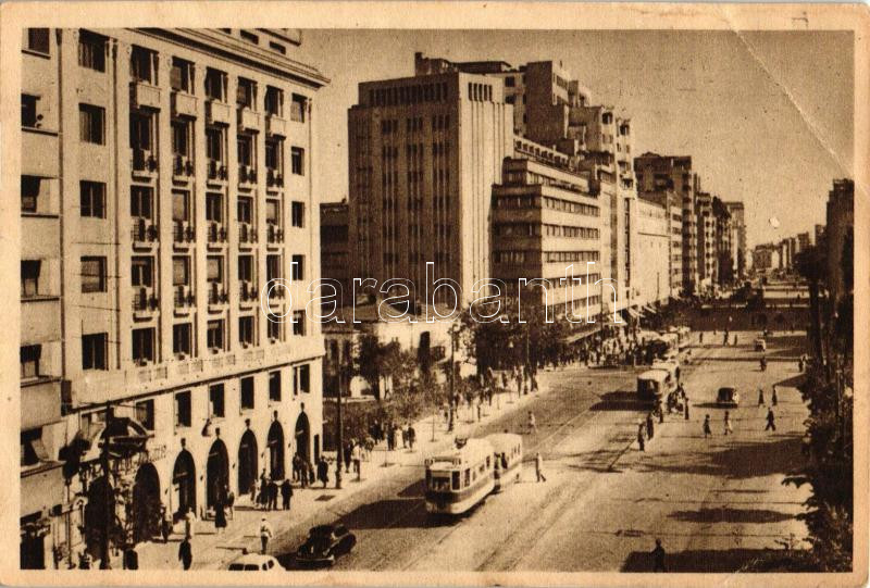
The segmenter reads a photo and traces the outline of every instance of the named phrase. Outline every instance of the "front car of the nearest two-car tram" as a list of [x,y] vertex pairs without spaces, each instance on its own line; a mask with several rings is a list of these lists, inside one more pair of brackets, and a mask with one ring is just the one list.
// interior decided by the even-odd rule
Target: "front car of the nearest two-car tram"
[[461,514],[495,489],[494,449],[486,439],[457,439],[455,449],[426,459],[426,512]]

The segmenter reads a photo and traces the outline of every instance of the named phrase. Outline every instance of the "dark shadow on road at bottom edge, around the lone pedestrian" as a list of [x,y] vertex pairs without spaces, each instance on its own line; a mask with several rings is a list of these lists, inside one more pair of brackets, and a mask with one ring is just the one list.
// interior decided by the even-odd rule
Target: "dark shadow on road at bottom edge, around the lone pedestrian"
[[[667,549],[667,546],[666,546]],[[650,548],[651,551],[651,548]],[[775,554],[772,549],[724,549],[689,550],[668,553],[666,570],[670,573],[706,572],[725,573],[749,570],[762,560]],[[649,552],[632,551],[620,568],[621,572],[652,572],[652,555]]]

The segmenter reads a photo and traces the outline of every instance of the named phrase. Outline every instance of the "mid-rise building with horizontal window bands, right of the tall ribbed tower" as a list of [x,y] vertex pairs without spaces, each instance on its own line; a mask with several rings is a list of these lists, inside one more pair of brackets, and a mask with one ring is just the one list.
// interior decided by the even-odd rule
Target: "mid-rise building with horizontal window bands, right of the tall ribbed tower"
[[546,291],[535,283],[519,296],[551,306],[554,317],[571,312],[574,321],[598,322],[602,290],[612,305],[612,290],[599,283],[608,202],[567,155],[519,137],[514,152],[493,186],[493,277],[509,297],[518,296],[521,278],[544,278]]

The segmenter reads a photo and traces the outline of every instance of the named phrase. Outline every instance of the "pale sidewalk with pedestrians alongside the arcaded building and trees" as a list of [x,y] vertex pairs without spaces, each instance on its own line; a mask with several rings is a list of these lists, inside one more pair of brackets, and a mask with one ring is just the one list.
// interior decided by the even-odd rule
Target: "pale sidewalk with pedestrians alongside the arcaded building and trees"
[[[228,518],[228,526],[222,534],[216,534],[212,521],[197,521],[196,534],[190,540],[194,554],[192,570],[221,570],[238,558],[245,550],[249,553],[260,551],[259,527],[262,516],[266,517],[273,530],[274,538],[291,527],[312,518],[323,509],[334,508],[336,503],[353,496],[356,492],[370,488],[373,485],[388,479],[398,467],[388,465],[420,465],[425,455],[450,447],[456,437],[470,435],[477,425],[486,424],[493,420],[522,409],[530,400],[548,391],[546,386],[546,372],[540,372],[538,381],[540,389],[536,393],[518,397],[517,391],[495,395],[493,405],[483,403],[481,420],[476,420],[476,408],[461,406],[457,411],[455,430],[447,433],[447,424],[442,414],[421,418],[413,424],[417,431],[418,443],[413,451],[399,449],[386,451],[386,442],[375,446],[369,461],[362,462],[362,480],[357,481],[356,474],[343,472],[340,490],[335,489],[335,463],[331,464],[330,484],[323,488],[322,484],[309,488],[294,486],[294,496],[289,511],[261,511],[252,508],[250,497],[236,499],[235,513]],[[544,376],[542,378],[542,376]],[[434,440],[433,440],[434,429]],[[281,502],[281,500],[278,500]],[[229,513],[227,513],[229,517]],[[178,561],[178,545],[184,538],[184,524],[175,525],[169,542],[148,541],[139,543],[136,550],[139,553],[140,570],[181,568]],[[113,556],[113,562],[120,566],[120,554]]]

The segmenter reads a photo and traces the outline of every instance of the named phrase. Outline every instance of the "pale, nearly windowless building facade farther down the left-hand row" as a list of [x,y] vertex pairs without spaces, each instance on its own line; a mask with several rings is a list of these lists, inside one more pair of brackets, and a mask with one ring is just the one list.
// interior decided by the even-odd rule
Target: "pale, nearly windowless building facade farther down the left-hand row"
[[[655,193],[655,192],[654,192]],[[643,195],[637,198],[636,284],[639,304],[667,302],[671,297],[671,218],[668,208]]]

